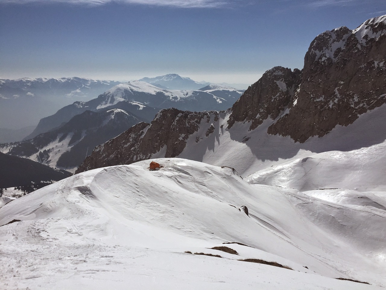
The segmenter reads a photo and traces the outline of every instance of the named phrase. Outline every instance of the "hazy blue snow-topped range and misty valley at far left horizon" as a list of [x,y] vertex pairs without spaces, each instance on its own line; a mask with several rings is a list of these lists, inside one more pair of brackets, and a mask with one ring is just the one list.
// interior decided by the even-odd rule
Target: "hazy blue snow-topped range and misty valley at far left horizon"
[[120,82],[78,77],[0,79],[0,127],[36,125],[61,107],[89,101],[117,84]]

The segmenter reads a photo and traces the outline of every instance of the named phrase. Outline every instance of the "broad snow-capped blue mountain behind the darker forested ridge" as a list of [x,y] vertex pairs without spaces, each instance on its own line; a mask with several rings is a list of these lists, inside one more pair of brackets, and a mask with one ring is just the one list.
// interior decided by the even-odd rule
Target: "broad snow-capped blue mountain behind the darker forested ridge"
[[96,99],[88,102],[74,102],[52,116],[41,119],[36,129],[25,140],[61,126],[76,114],[86,110],[120,108],[150,122],[160,109],[176,107],[192,111],[223,110],[232,106],[242,95],[242,91],[220,87],[222,87],[221,90],[206,92],[202,90],[166,90],[140,81],[119,84]]

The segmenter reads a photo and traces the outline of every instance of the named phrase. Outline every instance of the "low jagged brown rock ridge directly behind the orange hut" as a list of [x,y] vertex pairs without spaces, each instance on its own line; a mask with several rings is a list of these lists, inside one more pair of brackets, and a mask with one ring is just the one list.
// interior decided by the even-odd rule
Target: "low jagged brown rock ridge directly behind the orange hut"
[[[151,124],[141,122],[103,145],[79,166],[75,173],[93,168],[130,164],[153,158],[175,157],[185,149],[186,140],[197,132],[201,123],[210,124],[218,119],[218,112],[189,112],[175,108],[159,111]],[[208,129],[208,137],[212,132]],[[197,143],[200,138],[198,138]]]

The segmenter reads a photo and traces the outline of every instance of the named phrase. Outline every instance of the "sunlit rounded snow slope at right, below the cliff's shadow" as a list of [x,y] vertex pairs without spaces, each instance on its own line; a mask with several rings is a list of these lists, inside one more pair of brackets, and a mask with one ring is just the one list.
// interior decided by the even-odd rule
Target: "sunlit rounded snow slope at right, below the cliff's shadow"
[[325,188],[386,191],[385,153],[383,143],[349,152],[309,154],[309,157],[257,171],[246,180],[299,191]]

